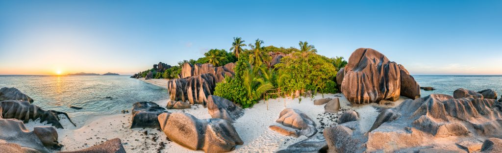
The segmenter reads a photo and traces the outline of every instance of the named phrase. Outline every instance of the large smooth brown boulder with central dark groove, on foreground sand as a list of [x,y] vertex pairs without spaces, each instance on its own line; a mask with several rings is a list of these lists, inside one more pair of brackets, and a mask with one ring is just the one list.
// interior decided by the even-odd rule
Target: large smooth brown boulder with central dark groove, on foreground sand
[[227,152],[243,144],[232,124],[224,119],[197,119],[175,112],[160,114],[159,121],[169,139],[192,150]]

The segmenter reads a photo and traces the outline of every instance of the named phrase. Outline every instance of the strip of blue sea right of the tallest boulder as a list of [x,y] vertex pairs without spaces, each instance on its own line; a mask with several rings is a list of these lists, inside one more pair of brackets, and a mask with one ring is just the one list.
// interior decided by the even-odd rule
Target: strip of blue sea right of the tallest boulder
[[[413,76],[422,87],[434,87],[434,91],[421,91],[421,96],[428,96],[433,93],[453,95],[453,91],[464,88],[473,91],[493,89],[498,95],[502,94],[501,75],[459,75],[459,76]],[[500,98],[500,96],[498,96]]]

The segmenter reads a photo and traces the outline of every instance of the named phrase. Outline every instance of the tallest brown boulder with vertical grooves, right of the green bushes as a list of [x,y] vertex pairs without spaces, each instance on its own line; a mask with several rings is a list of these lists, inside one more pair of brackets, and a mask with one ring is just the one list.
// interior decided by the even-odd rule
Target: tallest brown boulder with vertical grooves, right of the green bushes
[[340,71],[337,82],[341,80],[341,91],[353,104],[396,101],[400,95],[420,97],[420,86],[408,71],[373,49],[355,50]]

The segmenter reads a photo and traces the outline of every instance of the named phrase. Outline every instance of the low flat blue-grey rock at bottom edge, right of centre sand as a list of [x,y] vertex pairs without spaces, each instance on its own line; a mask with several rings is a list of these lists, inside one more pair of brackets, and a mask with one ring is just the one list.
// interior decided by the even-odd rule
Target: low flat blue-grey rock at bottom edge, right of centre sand
[[328,145],[324,136],[312,136],[303,141],[289,145],[284,150],[279,150],[277,153],[291,153],[291,152],[326,152]]

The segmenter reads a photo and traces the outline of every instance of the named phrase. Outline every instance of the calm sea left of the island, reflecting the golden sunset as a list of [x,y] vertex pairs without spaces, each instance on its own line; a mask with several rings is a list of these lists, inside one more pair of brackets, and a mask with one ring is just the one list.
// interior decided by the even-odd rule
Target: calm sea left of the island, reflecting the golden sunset
[[68,112],[70,117],[120,113],[138,101],[168,99],[167,89],[129,77],[0,76],[0,88],[18,88],[35,100],[33,104]]

